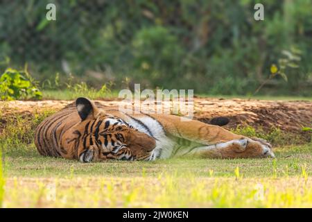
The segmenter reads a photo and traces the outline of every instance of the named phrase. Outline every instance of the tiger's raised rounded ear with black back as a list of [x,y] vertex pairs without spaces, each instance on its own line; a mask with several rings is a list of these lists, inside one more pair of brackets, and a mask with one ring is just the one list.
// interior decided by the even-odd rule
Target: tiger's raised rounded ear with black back
[[96,119],[100,114],[103,114],[103,111],[99,110],[94,102],[85,97],[76,99],[76,108],[82,121],[85,119]]

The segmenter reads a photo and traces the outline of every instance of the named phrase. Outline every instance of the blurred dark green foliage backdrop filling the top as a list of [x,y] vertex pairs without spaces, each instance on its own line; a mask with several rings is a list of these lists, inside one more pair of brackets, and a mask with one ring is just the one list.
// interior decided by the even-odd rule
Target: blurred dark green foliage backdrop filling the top
[[[47,22],[46,4],[56,21]],[[312,1],[263,0],[9,1],[0,3],[0,58],[28,63],[42,82],[73,74],[101,88],[195,89],[252,94],[279,67],[283,52],[301,51],[297,68],[268,81],[262,94],[312,95]],[[284,55],[287,56],[287,55]],[[0,64],[0,68],[5,69]],[[3,71],[1,70],[1,71]]]

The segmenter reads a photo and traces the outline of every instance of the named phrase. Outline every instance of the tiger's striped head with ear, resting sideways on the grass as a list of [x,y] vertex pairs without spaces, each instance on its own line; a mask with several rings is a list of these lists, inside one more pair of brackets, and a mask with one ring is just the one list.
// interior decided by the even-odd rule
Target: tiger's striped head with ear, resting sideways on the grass
[[[86,98],[76,100],[81,119],[73,130],[80,137],[80,162],[93,160],[148,160],[156,146],[155,139],[139,132],[128,123],[106,114]],[[83,132],[81,132],[83,131]]]

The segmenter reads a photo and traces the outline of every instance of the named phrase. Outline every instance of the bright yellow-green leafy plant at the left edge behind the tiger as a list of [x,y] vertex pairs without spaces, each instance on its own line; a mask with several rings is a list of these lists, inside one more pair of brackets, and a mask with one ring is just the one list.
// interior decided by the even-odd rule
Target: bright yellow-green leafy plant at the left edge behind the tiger
[[8,68],[0,77],[0,99],[42,99],[42,92],[28,74],[26,67],[24,71]]

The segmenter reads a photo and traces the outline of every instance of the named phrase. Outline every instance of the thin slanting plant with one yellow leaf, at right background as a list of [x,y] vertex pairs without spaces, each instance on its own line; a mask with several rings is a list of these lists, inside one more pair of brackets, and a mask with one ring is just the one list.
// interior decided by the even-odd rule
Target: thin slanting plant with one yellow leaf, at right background
[[283,50],[281,51],[283,54],[283,58],[279,58],[278,64],[272,64],[270,66],[270,76],[263,80],[263,82],[259,85],[259,87],[254,91],[254,96],[259,92],[259,90],[268,83],[269,80],[274,78],[275,76],[281,76],[286,82],[288,82],[288,78],[286,76],[286,68],[297,69],[299,68],[298,62],[301,60],[301,51],[299,49],[295,49],[295,47],[291,47],[290,51]]

